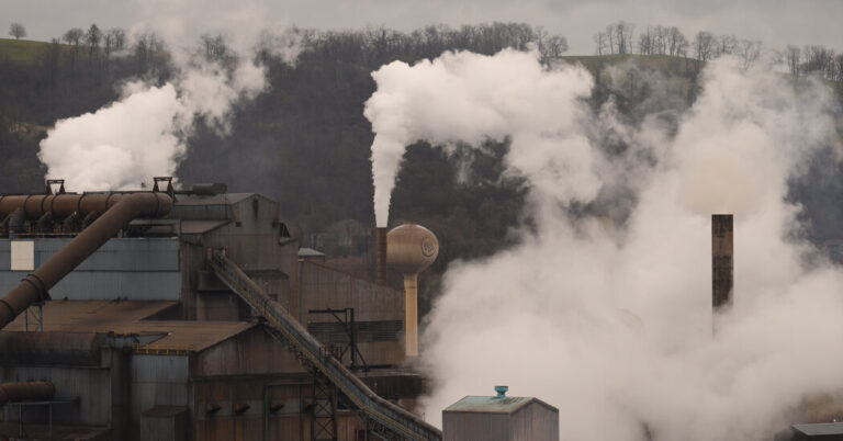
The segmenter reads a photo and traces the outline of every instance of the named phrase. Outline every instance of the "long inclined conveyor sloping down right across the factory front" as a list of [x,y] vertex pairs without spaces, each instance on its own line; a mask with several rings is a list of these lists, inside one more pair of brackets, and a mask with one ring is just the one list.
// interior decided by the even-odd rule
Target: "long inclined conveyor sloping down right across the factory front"
[[347,398],[370,433],[384,440],[442,439],[439,429],[372,392],[223,252],[212,251],[207,264],[229,290],[266,318],[271,333],[283,340],[300,361],[318,371]]

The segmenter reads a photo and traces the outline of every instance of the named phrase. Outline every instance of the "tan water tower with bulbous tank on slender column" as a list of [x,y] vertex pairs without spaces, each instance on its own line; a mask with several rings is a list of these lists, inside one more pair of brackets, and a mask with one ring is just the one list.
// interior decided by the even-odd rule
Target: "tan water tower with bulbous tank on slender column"
[[386,234],[386,262],[404,274],[404,353],[418,355],[418,273],[434,263],[439,240],[429,229],[406,223]]

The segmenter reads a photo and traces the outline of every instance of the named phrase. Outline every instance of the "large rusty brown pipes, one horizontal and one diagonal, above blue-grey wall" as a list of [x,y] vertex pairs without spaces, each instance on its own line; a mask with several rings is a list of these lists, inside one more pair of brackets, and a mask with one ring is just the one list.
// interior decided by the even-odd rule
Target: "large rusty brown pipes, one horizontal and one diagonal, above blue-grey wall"
[[[26,214],[32,216],[41,216],[45,211],[65,215],[95,211],[101,212],[102,215],[0,298],[0,329],[14,320],[14,317],[33,302],[43,298],[49,289],[114,237],[132,219],[164,216],[172,208],[172,197],[166,193],[97,193],[3,197],[0,200],[0,204],[3,205],[0,207],[0,213],[9,210],[12,201],[22,204]],[[11,207],[11,210],[14,208]]]

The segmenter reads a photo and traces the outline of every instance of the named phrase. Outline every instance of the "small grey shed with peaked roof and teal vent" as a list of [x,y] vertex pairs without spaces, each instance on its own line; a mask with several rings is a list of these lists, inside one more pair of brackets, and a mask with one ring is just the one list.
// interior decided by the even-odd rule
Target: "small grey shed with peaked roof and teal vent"
[[559,409],[505,392],[467,396],[442,410],[445,441],[559,441]]

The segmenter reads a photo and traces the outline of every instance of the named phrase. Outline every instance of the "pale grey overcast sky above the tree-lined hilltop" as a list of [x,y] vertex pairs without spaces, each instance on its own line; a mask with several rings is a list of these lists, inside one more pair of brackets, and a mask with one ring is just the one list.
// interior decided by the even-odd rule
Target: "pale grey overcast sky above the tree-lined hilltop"
[[[775,48],[822,44],[843,49],[843,0],[0,0],[0,25],[20,22],[30,38],[49,39],[70,27],[151,26],[171,38],[225,32],[247,38],[259,27],[412,30],[515,21],[567,37],[570,54],[592,54],[593,36],[617,20],[734,34]],[[5,22],[5,23],[2,23]]]

